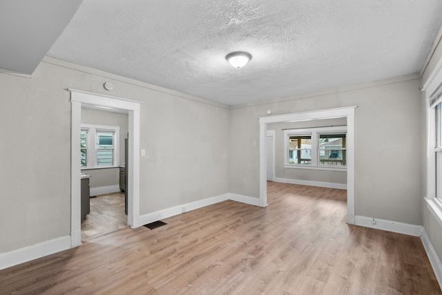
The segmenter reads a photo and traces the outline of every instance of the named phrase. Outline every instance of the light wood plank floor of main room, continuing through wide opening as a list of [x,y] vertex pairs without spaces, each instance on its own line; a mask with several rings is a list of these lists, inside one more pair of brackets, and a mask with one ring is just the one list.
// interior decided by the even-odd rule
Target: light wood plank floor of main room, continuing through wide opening
[[346,191],[268,183],[0,271],[1,294],[442,294],[420,238],[347,225]]

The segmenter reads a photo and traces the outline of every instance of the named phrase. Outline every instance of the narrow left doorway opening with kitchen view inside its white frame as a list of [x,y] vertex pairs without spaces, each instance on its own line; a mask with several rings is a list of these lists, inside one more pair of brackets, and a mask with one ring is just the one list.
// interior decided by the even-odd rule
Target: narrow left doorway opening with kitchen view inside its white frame
[[128,225],[122,192],[127,191],[127,138],[127,111],[81,108],[82,241]]

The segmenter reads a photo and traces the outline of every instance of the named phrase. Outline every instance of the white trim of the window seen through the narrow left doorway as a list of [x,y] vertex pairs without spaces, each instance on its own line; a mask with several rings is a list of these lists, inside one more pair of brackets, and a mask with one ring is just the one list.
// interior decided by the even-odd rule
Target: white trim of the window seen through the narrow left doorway
[[[119,126],[107,126],[96,124],[81,124],[81,131],[87,130],[86,135],[86,166],[81,166],[81,170],[106,169],[119,165]],[[97,164],[97,132],[113,133],[113,163],[112,165]]]

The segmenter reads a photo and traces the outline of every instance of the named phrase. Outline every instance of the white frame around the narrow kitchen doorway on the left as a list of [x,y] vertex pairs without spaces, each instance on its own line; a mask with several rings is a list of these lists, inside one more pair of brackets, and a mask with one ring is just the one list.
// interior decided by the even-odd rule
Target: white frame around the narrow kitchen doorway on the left
[[102,108],[103,111],[122,110],[128,113],[128,132],[131,134],[128,140],[128,162],[130,163],[128,175],[128,225],[140,226],[140,108],[141,102],[88,93],[86,91],[70,91],[71,113],[71,184],[70,184],[70,245],[81,245],[81,213],[80,213],[80,130],[81,130],[81,107],[93,106]]

